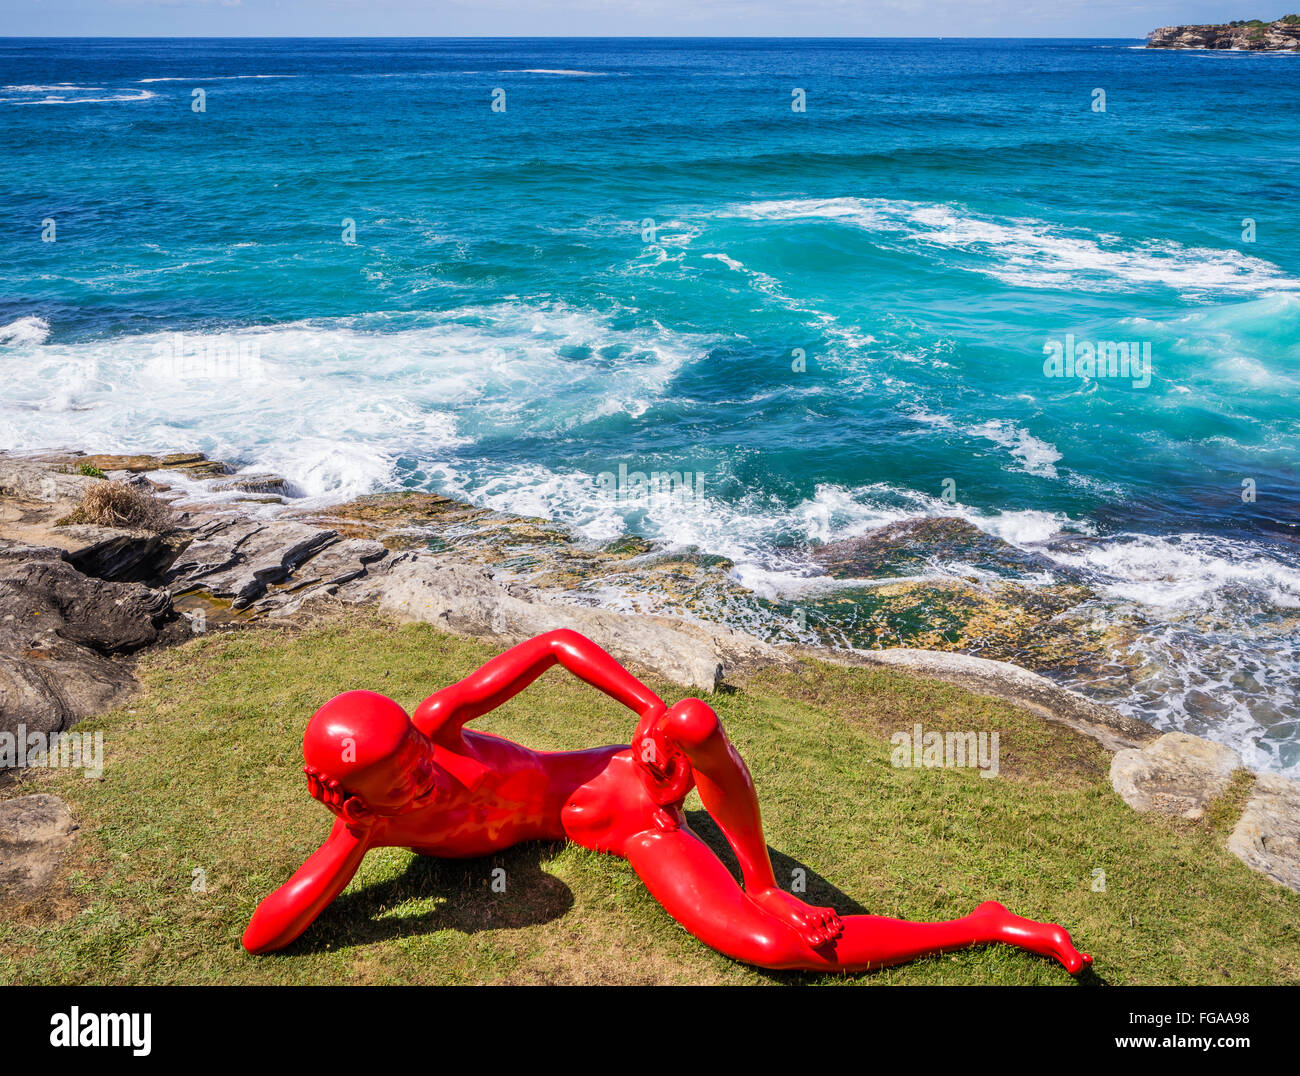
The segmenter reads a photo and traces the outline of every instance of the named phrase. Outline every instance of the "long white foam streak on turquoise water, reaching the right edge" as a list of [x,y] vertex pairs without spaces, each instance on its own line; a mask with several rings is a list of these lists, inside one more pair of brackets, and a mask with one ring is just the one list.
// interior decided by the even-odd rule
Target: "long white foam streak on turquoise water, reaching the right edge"
[[962,207],[890,199],[837,198],[754,201],[728,216],[762,221],[828,220],[894,237],[913,251],[944,248],[971,255],[958,265],[1019,287],[1117,290],[1164,286],[1180,292],[1297,290],[1277,265],[1232,250],[1184,247],[1170,240],[1123,243],[1031,218],[997,218]]

